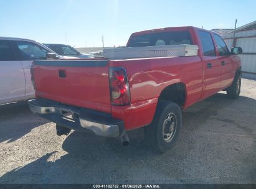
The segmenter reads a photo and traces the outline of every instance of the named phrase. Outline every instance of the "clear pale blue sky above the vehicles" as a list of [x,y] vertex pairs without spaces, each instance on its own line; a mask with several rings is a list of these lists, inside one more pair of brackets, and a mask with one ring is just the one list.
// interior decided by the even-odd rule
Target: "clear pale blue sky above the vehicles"
[[131,33],[192,25],[234,28],[256,20],[256,1],[0,0],[0,36],[75,47],[125,45]]

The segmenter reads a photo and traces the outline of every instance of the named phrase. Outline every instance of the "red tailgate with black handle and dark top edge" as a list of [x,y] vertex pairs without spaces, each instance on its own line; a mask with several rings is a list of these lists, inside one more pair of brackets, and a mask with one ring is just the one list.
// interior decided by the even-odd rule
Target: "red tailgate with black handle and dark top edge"
[[36,96],[110,113],[108,60],[36,60]]

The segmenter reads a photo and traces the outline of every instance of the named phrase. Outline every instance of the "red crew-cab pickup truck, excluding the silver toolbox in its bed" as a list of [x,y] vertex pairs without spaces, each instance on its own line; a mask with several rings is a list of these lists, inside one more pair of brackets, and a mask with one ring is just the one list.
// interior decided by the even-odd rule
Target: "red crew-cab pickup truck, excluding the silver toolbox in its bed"
[[70,129],[121,137],[145,127],[146,144],[158,152],[173,147],[182,127],[181,110],[221,90],[239,96],[241,63],[221,37],[196,27],[169,27],[131,35],[126,47],[197,45],[195,56],[108,60],[36,60],[31,68],[33,113]]

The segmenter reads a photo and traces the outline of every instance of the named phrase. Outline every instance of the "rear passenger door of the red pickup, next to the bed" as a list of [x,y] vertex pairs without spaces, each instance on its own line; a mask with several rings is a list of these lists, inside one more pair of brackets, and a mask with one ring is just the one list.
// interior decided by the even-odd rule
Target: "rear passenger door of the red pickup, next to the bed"
[[201,99],[207,98],[220,90],[221,65],[216,56],[212,36],[205,30],[199,30],[202,45],[202,62],[204,65],[203,86]]

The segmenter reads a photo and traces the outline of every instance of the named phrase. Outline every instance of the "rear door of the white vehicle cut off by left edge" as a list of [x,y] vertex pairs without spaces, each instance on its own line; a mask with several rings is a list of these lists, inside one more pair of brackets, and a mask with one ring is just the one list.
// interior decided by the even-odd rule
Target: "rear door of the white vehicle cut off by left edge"
[[0,40],[0,104],[21,100],[26,83],[21,62],[10,40]]

